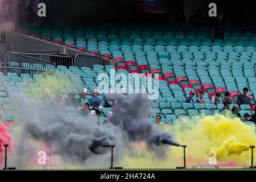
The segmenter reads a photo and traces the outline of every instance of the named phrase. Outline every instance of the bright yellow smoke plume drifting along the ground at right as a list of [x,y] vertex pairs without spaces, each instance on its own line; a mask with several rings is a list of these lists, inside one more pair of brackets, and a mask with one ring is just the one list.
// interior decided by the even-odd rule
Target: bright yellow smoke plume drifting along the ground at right
[[[231,115],[209,115],[179,121],[164,130],[174,134],[180,144],[187,144],[187,164],[197,166],[209,164],[210,152],[216,152],[217,164],[236,162],[250,166],[250,145],[256,144],[255,127],[245,125]],[[129,147],[118,164],[125,168],[175,168],[183,166],[181,147],[163,147],[166,155],[159,158],[153,151],[143,147]],[[133,152],[131,152],[133,151]],[[135,154],[134,154],[134,151]],[[158,151],[163,152],[163,151]]]

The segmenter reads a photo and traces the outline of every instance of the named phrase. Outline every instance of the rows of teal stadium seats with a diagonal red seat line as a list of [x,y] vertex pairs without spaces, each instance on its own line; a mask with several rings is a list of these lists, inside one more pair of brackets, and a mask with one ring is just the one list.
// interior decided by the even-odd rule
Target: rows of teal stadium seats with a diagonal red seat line
[[[24,28],[30,35],[36,31],[35,35],[42,39],[100,54],[115,61],[115,67],[94,65],[93,69],[57,65],[56,75],[52,78],[63,87],[61,92],[65,98],[71,90],[79,93],[81,88],[88,88],[91,93],[99,83],[95,79],[97,75],[109,75],[110,70],[114,69],[115,72],[126,75],[144,73],[143,76],[148,76],[149,73],[159,73],[160,97],[151,101],[151,117],[161,114],[163,119],[174,120],[195,114],[217,113],[223,105],[209,104],[215,92],[220,92],[223,96],[228,91],[236,101],[244,87],[249,88],[251,104],[255,104],[256,34],[255,30],[248,31],[247,27],[241,27],[240,32],[236,28],[228,28],[224,41],[213,41],[214,30],[209,27],[170,24],[126,26],[118,23],[103,23],[98,26],[88,24],[72,29],[65,26],[49,27],[51,26],[42,25]],[[19,66],[15,62],[10,62],[9,65]],[[21,66],[25,68],[30,65]],[[38,65],[34,66],[40,69]],[[44,86],[39,84],[40,80],[44,80],[42,76],[19,77],[15,73],[9,73],[7,77],[1,75],[0,79],[3,92],[1,97],[5,98],[5,94],[9,95],[10,92],[31,93],[36,98],[43,96]],[[38,85],[31,85],[31,82]],[[68,86],[65,82],[68,82]],[[202,104],[184,103],[191,90],[196,92],[194,100],[200,90],[205,91],[206,107]],[[90,94],[88,97],[91,97]],[[2,100],[0,103],[5,104]],[[107,111],[109,109],[104,108],[103,117]],[[252,115],[253,109],[242,105],[241,115],[247,112]],[[101,118],[100,121],[104,119]]]

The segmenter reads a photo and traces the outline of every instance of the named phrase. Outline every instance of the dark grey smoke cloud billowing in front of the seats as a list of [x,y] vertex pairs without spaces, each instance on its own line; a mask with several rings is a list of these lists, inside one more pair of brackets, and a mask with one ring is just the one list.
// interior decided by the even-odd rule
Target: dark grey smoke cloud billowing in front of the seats
[[[63,159],[85,163],[88,158],[109,152],[104,146],[115,145],[116,156],[121,156],[121,148],[130,142],[145,141],[153,150],[162,144],[179,146],[171,135],[148,121],[150,102],[146,94],[129,97],[114,94],[118,106],[108,123],[98,126],[92,115],[75,113],[77,118],[67,117],[65,107],[39,100],[20,100],[18,112],[26,134],[33,139],[54,146],[54,154]],[[74,114],[74,113],[73,113]]]

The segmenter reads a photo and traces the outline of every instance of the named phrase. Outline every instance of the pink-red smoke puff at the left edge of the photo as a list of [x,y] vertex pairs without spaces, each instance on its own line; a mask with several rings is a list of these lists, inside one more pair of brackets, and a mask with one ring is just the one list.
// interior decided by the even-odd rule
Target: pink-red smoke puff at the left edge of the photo
[[8,151],[13,150],[13,146],[11,144],[11,134],[9,133],[9,128],[3,125],[0,119],[0,164],[3,163],[5,156],[5,147],[4,144],[9,144]]

